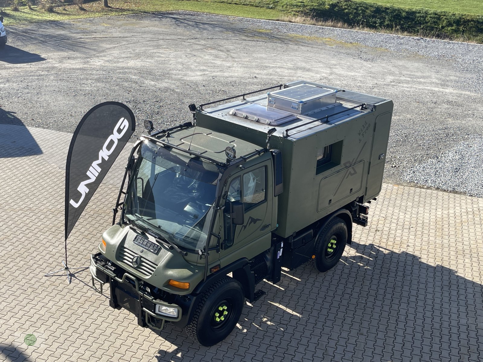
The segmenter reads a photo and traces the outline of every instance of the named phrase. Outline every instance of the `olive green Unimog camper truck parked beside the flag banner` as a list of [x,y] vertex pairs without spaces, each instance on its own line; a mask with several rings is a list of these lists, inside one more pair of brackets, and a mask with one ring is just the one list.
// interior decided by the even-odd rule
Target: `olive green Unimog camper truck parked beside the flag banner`
[[367,225],[393,102],[298,81],[189,109],[170,129],[145,122],[90,269],[139,325],[211,346],[259,282],[309,260],[327,271]]

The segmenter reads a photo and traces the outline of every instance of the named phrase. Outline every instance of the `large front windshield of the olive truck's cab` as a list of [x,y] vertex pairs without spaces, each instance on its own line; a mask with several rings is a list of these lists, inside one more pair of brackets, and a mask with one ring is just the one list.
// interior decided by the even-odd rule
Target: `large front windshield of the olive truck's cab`
[[217,168],[145,141],[126,197],[129,221],[190,250],[203,249],[213,214]]

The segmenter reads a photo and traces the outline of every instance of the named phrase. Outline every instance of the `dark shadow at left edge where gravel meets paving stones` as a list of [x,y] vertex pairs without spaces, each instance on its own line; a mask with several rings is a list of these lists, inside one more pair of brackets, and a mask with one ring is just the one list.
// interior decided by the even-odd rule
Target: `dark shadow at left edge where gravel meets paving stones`
[[42,154],[27,127],[14,114],[0,108],[0,158]]

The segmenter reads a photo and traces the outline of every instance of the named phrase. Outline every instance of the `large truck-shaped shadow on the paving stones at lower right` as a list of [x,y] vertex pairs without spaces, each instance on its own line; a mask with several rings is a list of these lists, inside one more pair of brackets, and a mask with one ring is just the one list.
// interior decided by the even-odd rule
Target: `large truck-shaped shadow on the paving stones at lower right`
[[[351,247],[359,254],[344,255],[327,273],[308,266],[284,272],[283,289],[262,297],[248,316],[245,306],[241,330],[235,328],[221,344],[194,345],[171,325],[155,332],[175,347],[161,348],[157,360],[181,361],[195,353],[209,359],[226,348],[250,353],[246,346],[255,336],[267,339],[263,358],[270,361],[277,356],[294,360],[293,353],[295,360],[300,353],[307,360],[324,361],[354,361],[356,355],[360,361],[482,361],[481,284],[447,267],[423,263],[409,252],[374,244]],[[267,294],[270,287],[263,287]],[[253,350],[259,354],[261,347]]]

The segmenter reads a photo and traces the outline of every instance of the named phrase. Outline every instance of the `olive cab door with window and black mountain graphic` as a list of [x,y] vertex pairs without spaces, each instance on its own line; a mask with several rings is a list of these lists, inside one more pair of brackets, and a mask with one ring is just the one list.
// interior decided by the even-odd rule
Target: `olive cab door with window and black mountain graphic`
[[[273,213],[273,180],[271,160],[247,168],[233,175],[228,182],[227,203],[243,203],[243,224],[231,222],[224,213],[224,247],[221,257],[240,250],[240,255],[251,258],[270,248]],[[228,204],[227,204],[228,206]],[[227,209],[227,207],[225,208]],[[241,257],[233,256],[231,261]],[[233,259],[233,260],[232,260]],[[228,264],[228,263],[227,263]]]

